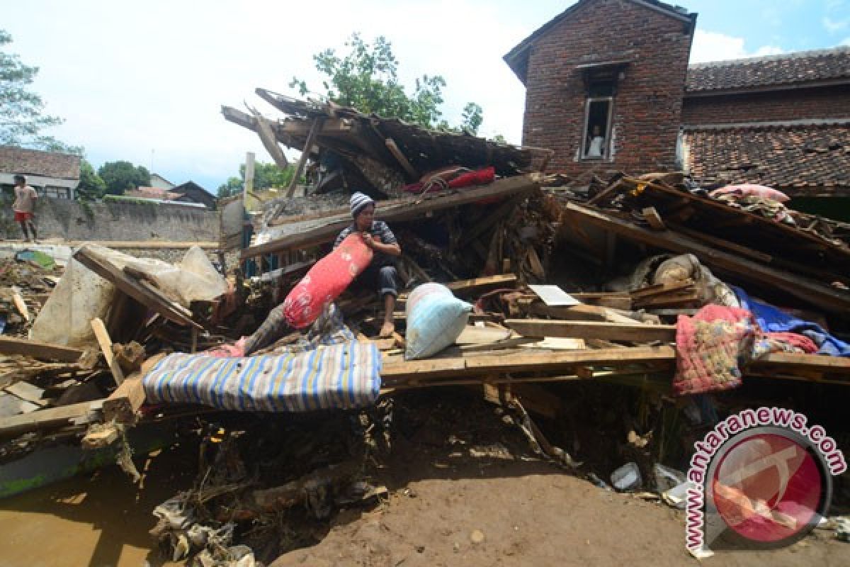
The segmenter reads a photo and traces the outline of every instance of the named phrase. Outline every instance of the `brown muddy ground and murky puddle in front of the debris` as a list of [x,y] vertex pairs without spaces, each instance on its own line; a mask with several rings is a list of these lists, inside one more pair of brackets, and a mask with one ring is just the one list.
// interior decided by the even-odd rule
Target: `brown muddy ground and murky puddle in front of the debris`
[[[486,417],[491,407],[463,408],[457,421],[435,408],[442,427],[399,411],[393,451],[371,479],[388,498],[308,522],[314,545],[274,566],[697,564],[684,550],[682,512],[542,462],[515,429]],[[197,445],[184,442],[139,458],[140,488],[111,467],[0,501],[0,567],[173,565],[151,548],[150,512],[191,485],[196,462]],[[850,544],[816,530],[792,547],[706,563],[837,567],[850,564]]]

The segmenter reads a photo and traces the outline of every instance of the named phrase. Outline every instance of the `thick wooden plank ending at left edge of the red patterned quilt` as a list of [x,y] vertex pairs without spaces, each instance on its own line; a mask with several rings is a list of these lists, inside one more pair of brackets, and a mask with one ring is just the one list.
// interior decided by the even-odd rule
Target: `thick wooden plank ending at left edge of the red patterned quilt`
[[602,338],[607,341],[652,342],[676,340],[675,325],[643,325],[635,322],[562,321],[508,319],[505,325],[524,337]]

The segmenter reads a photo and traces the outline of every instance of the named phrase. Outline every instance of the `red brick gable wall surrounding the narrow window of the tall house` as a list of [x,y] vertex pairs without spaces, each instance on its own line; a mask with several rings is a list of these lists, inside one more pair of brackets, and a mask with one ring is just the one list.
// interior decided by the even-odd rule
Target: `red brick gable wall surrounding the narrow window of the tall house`
[[[595,0],[537,38],[529,55],[523,144],[555,150],[549,171],[675,167],[691,45],[687,22],[624,0]],[[576,65],[630,60],[614,101],[609,162],[581,162],[586,91]]]

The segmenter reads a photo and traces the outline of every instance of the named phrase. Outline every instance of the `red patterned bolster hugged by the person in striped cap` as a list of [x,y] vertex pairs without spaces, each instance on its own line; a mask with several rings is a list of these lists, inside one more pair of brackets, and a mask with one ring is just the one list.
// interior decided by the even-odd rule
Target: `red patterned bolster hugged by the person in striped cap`
[[297,283],[283,302],[286,322],[296,329],[309,326],[321,315],[326,304],[345,291],[372,258],[359,232],[346,236],[336,250],[321,258]]

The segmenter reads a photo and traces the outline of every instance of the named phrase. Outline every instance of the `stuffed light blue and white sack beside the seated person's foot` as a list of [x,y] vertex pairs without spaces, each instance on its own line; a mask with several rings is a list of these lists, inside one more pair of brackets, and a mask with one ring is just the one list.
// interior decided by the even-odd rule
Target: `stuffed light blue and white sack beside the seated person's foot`
[[467,326],[472,307],[439,283],[416,287],[407,298],[405,359],[428,358],[454,343]]

